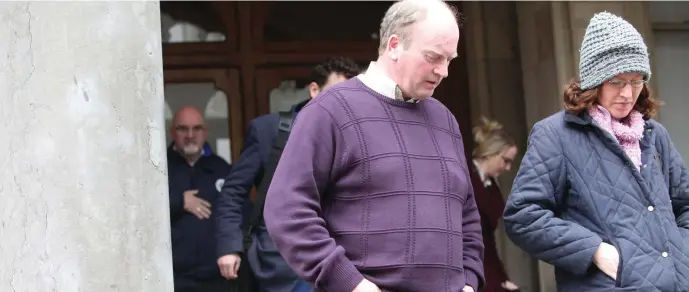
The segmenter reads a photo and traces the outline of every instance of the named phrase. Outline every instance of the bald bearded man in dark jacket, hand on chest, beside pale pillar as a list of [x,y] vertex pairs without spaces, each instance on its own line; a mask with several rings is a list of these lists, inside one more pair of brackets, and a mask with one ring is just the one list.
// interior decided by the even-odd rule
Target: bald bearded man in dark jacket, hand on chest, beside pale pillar
[[229,291],[215,263],[213,210],[230,165],[206,144],[208,128],[194,107],[180,109],[167,151],[175,292]]

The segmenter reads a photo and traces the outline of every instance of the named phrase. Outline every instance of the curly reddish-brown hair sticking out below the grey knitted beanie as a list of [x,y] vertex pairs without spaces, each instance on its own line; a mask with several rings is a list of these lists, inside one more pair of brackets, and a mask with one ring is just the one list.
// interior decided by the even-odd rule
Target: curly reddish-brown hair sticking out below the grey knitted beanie
[[[569,113],[578,115],[588,109],[598,101],[598,91],[601,86],[581,91],[579,80],[573,79],[565,87],[564,100],[565,110]],[[658,113],[658,109],[663,103],[651,95],[651,89],[644,85],[641,89],[639,98],[636,100],[634,109],[640,112],[645,120],[652,119]]]

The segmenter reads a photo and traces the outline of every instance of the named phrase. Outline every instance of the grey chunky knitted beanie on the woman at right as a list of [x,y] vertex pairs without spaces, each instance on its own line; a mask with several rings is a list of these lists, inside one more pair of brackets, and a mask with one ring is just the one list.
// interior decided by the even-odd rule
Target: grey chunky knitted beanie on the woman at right
[[651,79],[648,48],[629,22],[608,12],[597,13],[586,28],[579,50],[581,90],[597,87],[622,73]]

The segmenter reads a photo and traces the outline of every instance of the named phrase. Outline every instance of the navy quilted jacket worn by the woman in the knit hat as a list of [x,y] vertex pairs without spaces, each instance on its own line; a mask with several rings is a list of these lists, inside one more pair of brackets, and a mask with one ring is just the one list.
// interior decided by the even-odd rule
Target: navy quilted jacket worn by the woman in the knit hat
[[[504,219],[509,238],[555,266],[558,291],[689,291],[689,172],[648,120],[640,171],[587,113],[534,125]],[[593,255],[620,253],[617,280]]]

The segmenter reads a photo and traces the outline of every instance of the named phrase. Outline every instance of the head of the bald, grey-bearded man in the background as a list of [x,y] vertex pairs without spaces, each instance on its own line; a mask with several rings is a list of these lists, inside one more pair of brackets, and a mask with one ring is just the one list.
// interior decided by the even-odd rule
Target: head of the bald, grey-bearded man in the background
[[195,159],[201,154],[207,136],[208,128],[201,111],[191,106],[177,111],[170,127],[170,137],[177,151],[187,159]]

